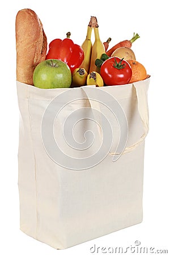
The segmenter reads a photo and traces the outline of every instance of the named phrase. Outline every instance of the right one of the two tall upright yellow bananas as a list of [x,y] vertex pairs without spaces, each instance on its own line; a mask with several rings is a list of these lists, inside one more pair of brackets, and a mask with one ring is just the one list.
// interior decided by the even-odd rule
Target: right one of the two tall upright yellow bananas
[[97,19],[96,19],[96,25],[94,27],[94,32],[95,32],[95,42],[92,46],[92,53],[91,53],[91,63],[90,63],[90,73],[92,71],[96,71],[97,73],[100,73],[100,68],[97,68],[95,65],[96,59],[100,59],[101,55],[105,53],[105,48],[104,44],[100,40],[99,36],[99,28],[97,24]]

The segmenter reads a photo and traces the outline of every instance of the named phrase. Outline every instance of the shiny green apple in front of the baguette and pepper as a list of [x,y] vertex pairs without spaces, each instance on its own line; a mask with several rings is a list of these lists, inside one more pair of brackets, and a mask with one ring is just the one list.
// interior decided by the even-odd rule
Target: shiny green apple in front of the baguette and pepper
[[68,88],[71,85],[70,68],[61,60],[41,61],[33,72],[33,84],[42,89]]

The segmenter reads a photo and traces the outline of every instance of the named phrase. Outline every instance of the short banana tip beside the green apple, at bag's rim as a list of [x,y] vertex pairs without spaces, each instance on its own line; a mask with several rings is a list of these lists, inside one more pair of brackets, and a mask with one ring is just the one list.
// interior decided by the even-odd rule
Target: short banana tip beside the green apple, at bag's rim
[[76,68],[73,71],[71,87],[86,85],[87,72],[84,68]]

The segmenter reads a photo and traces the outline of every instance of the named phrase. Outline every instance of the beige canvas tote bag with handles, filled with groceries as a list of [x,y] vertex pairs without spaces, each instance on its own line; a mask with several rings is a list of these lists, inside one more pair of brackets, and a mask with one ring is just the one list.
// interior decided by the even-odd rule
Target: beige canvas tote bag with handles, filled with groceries
[[142,221],[149,82],[64,89],[17,82],[25,234],[66,249]]

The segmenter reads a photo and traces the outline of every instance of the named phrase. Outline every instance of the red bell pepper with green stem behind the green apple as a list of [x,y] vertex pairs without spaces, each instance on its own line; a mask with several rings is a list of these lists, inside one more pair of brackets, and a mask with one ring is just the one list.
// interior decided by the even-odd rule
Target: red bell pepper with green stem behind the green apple
[[75,68],[79,68],[84,60],[84,52],[82,47],[74,44],[70,39],[70,32],[67,32],[67,38],[54,39],[49,44],[49,50],[46,55],[47,59],[57,59],[65,62],[73,73]]

